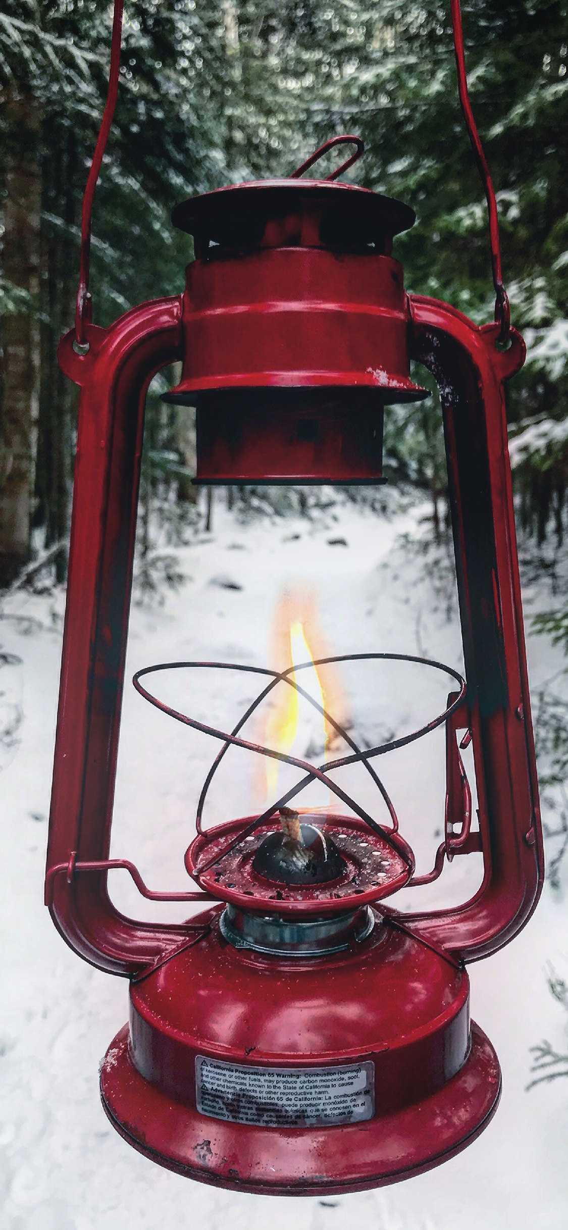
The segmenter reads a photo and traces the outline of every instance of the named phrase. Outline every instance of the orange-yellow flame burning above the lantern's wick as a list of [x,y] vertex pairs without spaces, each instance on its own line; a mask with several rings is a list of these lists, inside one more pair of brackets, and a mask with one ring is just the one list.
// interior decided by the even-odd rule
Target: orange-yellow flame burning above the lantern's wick
[[[270,663],[275,670],[286,670],[331,654],[317,616],[316,597],[311,590],[286,590],[282,595],[274,613],[270,642]],[[336,721],[345,724],[344,694],[333,664],[298,670],[291,678]],[[314,764],[325,761],[328,745],[336,739],[336,731],[323,715],[285,683],[278,684],[267,705],[262,733],[266,747]],[[291,772],[298,776],[298,770]],[[280,761],[266,758],[258,780],[258,793],[266,803],[283,793],[282,776]],[[290,777],[290,785],[293,780]],[[294,800],[294,806],[296,802],[299,807],[323,807],[329,804],[331,796],[320,782],[312,782]]]

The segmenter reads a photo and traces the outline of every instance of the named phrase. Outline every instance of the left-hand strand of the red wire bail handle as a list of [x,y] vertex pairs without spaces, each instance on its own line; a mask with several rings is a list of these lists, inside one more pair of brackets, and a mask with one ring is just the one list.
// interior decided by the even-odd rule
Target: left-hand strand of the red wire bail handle
[[90,325],[92,321],[92,298],[89,293],[89,273],[91,263],[91,215],[92,215],[92,200],[95,197],[95,188],[97,186],[98,172],[101,170],[102,160],[105,156],[105,150],[107,146],[108,134],[111,132],[111,124],[114,116],[114,107],[118,96],[118,81],[120,75],[120,44],[122,44],[122,17],[123,17],[124,0],[114,0],[114,15],[112,21],[112,39],[111,39],[111,69],[108,74],[108,91],[107,101],[105,105],[105,112],[101,122],[101,129],[97,137],[97,144],[95,146],[95,154],[92,156],[91,169],[89,171],[87,182],[85,186],[85,196],[82,198],[82,214],[81,214],[81,260],[80,260],[80,272],[79,272],[79,292],[77,301],[75,309],[75,341],[74,349],[79,354],[86,354],[89,351],[89,342],[85,337],[85,325]]

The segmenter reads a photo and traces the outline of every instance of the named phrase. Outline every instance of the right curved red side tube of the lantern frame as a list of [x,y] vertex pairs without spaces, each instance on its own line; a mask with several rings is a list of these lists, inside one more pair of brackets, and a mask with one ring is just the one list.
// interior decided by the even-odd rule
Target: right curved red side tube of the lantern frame
[[434,375],[443,410],[484,875],[461,907],[404,918],[472,962],[514,938],[545,879],[505,402],[526,348],[514,328],[500,351],[499,323],[479,327],[440,300],[408,298],[411,358]]

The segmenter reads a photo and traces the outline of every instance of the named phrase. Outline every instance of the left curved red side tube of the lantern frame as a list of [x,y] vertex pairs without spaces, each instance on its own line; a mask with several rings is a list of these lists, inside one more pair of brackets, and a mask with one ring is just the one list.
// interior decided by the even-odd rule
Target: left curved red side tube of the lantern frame
[[187,943],[187,925],[127,919],[108,897],[107,870],[53,871],[73,852],[108,860],[145,397],[152,376],[182,357],[181,319],[181,295],[155,300],[107,330],[87,325],[87,353],[75,351],[74,330],[58,351],[81,395],[45,899],[79,956],[127,977]]

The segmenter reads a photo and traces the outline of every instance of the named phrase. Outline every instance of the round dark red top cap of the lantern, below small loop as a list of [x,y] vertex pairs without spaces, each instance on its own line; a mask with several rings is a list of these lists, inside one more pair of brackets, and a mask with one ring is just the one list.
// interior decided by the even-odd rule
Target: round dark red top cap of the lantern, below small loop
[[342,228],[393,236],[409,230],[416,213],[402,200],[370,188],[329,180],[282,178],[232,183],[176,205],[173,225],[194,237],[223,242],[227,228],[246,226],[251,235],[268,218],[296,212],[321,212]]

